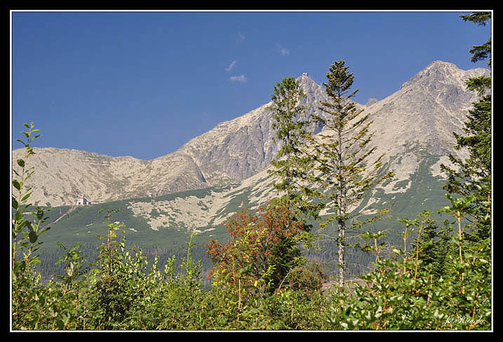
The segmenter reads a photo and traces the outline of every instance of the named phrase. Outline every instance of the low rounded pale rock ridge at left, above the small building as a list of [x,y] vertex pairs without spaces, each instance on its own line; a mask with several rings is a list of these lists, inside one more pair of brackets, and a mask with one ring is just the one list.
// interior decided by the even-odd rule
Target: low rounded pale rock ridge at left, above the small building
[[[35,168],[28,185],[37,205],[70,205],[81,195],[97,203],[206,187],[199,167],[178,152],[152,160],[54,147],[34,152],[27,161]],[[23,154],[13,151],[13,169],[19,169],[15,160]]]

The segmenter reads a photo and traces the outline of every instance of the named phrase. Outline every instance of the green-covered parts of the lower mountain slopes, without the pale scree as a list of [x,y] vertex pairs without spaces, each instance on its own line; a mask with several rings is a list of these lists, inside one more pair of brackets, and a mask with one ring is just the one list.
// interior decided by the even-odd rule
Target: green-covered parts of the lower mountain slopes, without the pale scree
[[[398,218],[415,218],[417,210],[427,209],[434,213],[434,217],[438,218],[436,209],[441,206],[448,205],[445,199],[445,192],[442,190],[444,180],[440,177],[431,175],[431,166],[438,162],[438,157],[428,154],[427,152],[416,152],[420,156],[420,166],[417,171],[410,177],[409,180],[396,183],[394,191],[400,188],[408,189],[405,192],[385,193],[384,190],[378,189],[373,197],[373,204],[370,203],[371,197],[367,197],[356,209],[361,211],[380,210],[389,208],[391,211],[372,225],[365,226],[365,230],[384,230],[387,233],[387,244],[400,245],[402,244],[401,237],[398,233],[403,231],[403,226],[398,223]],[[229,191],[230,190],[230,191]],[[204,198],[211,193],[227,192],[225,196],[232,197],[226,206],[219,210],[220,214],[235,213],[243,207],[250,207],[249,198],[253,192],[252,188],[245,188],[233,191],[231,187],[213,187],[201,190],[191,190],[185,192],[177,192],[170,195],[163,195],[155,198],[145,197],[137,199],[124,199],[120,201],[92,204],[90,206],[60,206],[52,208],[48,211],[48,225],[51,226],[43,236],[43,245],[41,247],[41,259],[44,265],[53,265],[62,253],[59,243],[65,246],[71,246],[76,242],[81,243],[85,251],[88,261],[94,260],[94,255],[97,247],[102,242],[99,236],[107,234],[107,212],[114,211],[110,214],[110,222],[120,222],[125,225],[121,228],[121,233],[126,237],[126,246],[137,246],[142,248],[149,258],[154,258],[158,255],[161,261],[167,260],[171,256],[178,256],[180,260],[187,247],[187,241],[193,230],[197,230],[194,236],[193,254],[196,259],[201,261],[203,271],[207,271],[212,267],[209,259],[206,257],[206,243],[211,239],[218,241],[227,241],[228,234],[223,224],[208,225],[205,227],[192,227],[179,224],[173,225],[173,221],[166,219],[166,225],[154,230],[149,226],[145,218],[135,216],[130,209],[131,203],[138,202],[163,202],[174,201],[175,199],[186,197]],[[204,205],[204,204],[201,204]],[[152,216],[159,216],[161,212],[156,209],[152,210]],[[166,214],[166,213],[163,213]],[[60,218],[60,216],[63,216]],[[60,218],[58,220],[58,218]],[[54,223],[54,221],[58,220]],[[210,223],[213,220],[210,220]],[[326,239],[326,236],[335,236],[335,229],[331,226],[319,229],[319,222],[312,222],[314,232],[319,235],[319,249],[310,249],[305,251],[309,258],[316,259],[326,264],[326,268],[335,269],[335,260],[337,260],[337,247],[333,241]],[[355,233],[356,234],[356,233]],[[354,239],[354,242],[357,240]],[[354,243],[352,242],[352,243]],[[349,249],[348,253],[348,275],[354,277],[361,274],[364,270],[370,268],[370,263],[375,261],[375,256],[359,249]],[[53,269],[41,270],[44,277],[50,277],[54,272],[60,272],[57,266]]]

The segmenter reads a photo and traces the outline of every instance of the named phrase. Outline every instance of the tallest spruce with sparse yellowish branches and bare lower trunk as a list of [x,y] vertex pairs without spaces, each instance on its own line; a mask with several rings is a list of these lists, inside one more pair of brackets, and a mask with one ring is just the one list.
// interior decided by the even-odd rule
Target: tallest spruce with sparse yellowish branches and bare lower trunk
[[377,217],[361,221],[360,215],[353,212],[356,204],[368,190],[394,176],[391,172],[381,172],[384,154],[370,161],[376,149],[369,145],[374,135],[370,132],[373,121],[351,100],[357,91],[350,92],[354,76],[348,69],[344,60],[330,65],[326,74],[328,81],[323,83],[330,100],[321,102],[318,107],[325,115],[311,114],[314,121],[326,126],[326,133],[318,133],[312,139],[312,155],[316,160],[312,180],[318,185],[321,200],[329,212],[321,226],[331,221],[337,225],[338,237],[335,240],[340,286],[344,284],[347,230],[357,230]]

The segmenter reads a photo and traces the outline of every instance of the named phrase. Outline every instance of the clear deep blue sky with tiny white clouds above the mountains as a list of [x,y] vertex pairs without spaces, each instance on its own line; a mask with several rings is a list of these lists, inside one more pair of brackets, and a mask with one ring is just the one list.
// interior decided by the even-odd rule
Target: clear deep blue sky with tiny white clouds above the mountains
[[[354,72],[385,98],[434,60],[463,70],[490,26],[459,12],[13,12],[11,142],[153,159],[267,103],[283,77]],[[468,13],[466,13],[468,14]]]

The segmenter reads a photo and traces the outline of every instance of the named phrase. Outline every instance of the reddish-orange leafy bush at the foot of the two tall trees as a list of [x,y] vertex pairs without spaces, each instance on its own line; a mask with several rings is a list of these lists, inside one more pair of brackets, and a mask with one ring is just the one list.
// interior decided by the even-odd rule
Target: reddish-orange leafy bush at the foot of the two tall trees
[[[231,236],[227,244],[213,239],[208,243],[208,256],[215,263],[215,284],[250,294],[270,293],[294,283],[312,287],[307,278],[300,279],[300,273],[307,272],[297,246],[303,228],[304,223],[295,220],[293,212],[283,206],[262,208],[258,216],[241,211],[227,223]],[[320,283],[315,287],[319,289]]]

